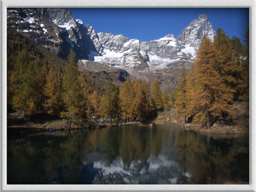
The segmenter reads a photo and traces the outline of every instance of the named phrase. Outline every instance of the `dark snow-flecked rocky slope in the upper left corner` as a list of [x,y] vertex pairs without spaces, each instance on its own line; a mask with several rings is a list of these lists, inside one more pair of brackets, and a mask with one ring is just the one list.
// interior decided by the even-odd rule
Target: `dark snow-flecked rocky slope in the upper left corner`
[[52,22],[44,8],[8,8],[7,27],[35,40],[60,57],[67,52],[62,30]]

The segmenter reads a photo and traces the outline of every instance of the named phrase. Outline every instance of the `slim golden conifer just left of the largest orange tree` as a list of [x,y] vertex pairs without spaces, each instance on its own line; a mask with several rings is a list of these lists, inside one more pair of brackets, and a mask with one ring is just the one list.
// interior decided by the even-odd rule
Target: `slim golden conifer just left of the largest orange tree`
[[187,70],[184,64],[180,69],[180,74],[181,76],[179,77],[178,85],[176,87],[176,92],[175,92],[174,107],[179,116],[185,116],[185,124],[186,124],[187,115],[189,113],[188,104],[190,102],[190,97],[188,95]]

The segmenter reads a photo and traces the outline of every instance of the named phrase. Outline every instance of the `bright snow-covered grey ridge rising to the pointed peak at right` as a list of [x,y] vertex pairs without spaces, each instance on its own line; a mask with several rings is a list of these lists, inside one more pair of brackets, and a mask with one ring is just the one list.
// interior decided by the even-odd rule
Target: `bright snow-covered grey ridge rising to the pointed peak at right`
[[89,59],[117,68],[152,70],[178,68],[181,63],[191,62],[206,35],[212,40],[216,32],[206,15],[202,14],[185,27],[176,39],[168,34],[150,42],[128,39],[123,35],[98,33],[91,36],[97,47]]

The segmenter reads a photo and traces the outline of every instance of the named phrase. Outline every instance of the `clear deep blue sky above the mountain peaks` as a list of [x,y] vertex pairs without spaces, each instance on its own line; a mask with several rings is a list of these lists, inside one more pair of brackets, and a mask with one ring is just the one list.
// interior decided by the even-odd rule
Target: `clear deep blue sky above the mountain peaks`
[[174,34],[177,38],[199,14],[206,14],[216,31],[243,40],[249,26],[249,8],[61,8],[92,26],[96,33],[123,34],[129,39],[151,41]]

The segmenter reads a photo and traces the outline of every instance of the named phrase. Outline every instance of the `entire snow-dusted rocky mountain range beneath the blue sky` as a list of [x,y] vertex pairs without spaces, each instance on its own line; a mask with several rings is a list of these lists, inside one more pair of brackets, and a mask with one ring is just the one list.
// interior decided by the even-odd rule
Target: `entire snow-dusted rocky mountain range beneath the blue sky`
[[[126,70],[131,77],[153,81],[162,89],[173,90],[179,68],[196,59],[204,35],[211,40],[216,32],[206,15],[192,20],[180,35],[173,34],[142,42],[124,35],[95,33],[92,26],[74,19],[70,10],[59,8],[8,8],[7,28],[36,41],[45,49],[66,59],[71,48],[79,70],[99,72]],[[173,85],[170,85],[173,84]]]

